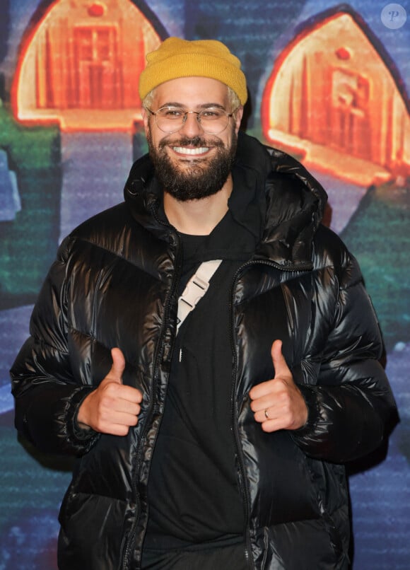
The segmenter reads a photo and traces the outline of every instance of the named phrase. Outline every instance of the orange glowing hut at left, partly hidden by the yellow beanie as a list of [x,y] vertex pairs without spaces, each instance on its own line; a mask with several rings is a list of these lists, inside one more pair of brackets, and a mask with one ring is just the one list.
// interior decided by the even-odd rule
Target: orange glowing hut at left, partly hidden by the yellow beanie
[[21,122],[63,130],[130,129],[141,119],[139,74],[160,45],[129,0],[59,0],[26,33],[12,103]]

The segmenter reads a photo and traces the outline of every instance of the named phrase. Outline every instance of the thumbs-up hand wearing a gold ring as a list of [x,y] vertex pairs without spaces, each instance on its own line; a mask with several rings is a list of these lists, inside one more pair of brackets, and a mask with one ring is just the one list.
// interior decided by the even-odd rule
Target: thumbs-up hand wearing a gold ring
[[299,429],[307,421],[307,406],[282,354],[281,340],[272,344],[271,356],[275,377],[257,384],[249,392],[254,419],[262,424],[264,431]]

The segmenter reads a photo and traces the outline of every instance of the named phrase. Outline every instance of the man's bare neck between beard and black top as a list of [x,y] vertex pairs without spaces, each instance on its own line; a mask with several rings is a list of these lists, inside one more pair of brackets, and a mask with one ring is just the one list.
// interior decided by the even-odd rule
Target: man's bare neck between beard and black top
[[209,235],[228,211],[232,188],[233,180],[229,176],[219,192],[198,200],[180,202],[164,192],[164,209],[168,221],[181,233]]

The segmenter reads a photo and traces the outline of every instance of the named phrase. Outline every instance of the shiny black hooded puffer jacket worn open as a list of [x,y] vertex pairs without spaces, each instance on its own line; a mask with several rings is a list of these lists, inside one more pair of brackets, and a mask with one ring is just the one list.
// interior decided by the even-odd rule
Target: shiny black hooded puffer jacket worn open
[[[326,195],[290,156],[240,135],[238,160],[266,187],[266,226],[232,290],[233,429],[250,568],[346,568],[342,463],[380,444],[394,400],[377,362],[382,342],[354,258],[320,225]],[[12,368],[16,426],[35,445],[78,456],[61,506],[59,566],[138,569],[149,464],[175,336],[180,248],[156,214],[151,162],[137,161],[125,202],[83,223],[59,249]],[[298,431],[262,432],[248,393],[283,351],[307,406]],[[144,394],[126,437],[83,433],[84,397],[111,366]],[[233,569],[232,569],[233,570]]]

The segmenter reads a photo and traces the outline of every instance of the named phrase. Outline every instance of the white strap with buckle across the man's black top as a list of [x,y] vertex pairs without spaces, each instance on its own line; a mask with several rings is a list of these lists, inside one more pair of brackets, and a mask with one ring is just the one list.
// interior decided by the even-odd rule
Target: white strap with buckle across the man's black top
[[209,281],[220,266],[222,260],[205,261],[199,265],[191,279],[189,279],[182,295],[178,299],[177,332],[182,322],[189,313],[197,306],[197,303],[205,295],[209,288]]

